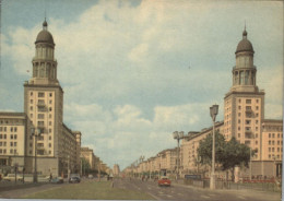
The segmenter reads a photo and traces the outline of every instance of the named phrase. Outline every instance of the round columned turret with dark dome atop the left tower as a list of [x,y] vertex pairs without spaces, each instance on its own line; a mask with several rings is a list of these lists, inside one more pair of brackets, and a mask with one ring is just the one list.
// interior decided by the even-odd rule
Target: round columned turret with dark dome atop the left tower
[[32,61],[33,78],[29,81],[34,84],[58,84],[55,42],[47,26],[45,20],[43,31],[38,33],[35,42],[35,57]]

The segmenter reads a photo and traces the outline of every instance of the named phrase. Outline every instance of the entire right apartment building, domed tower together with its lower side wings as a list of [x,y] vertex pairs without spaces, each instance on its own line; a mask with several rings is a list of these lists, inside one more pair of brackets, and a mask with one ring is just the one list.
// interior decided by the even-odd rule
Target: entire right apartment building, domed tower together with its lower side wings
[[[252,157],[252,175],[280,176],[282,174],[283,120],[264,119],[264,91],[257,85],[255,50],[242,32],[236,49],[236,66],[233,68],[233,85],[224,97],[224,121],[216,122],[216,130],[228,141],[235,137],[257,153]],[[199,143],[212,127],[182,140],[184,173],[197,169]],[[248,176],[248,169],[238,173]]]

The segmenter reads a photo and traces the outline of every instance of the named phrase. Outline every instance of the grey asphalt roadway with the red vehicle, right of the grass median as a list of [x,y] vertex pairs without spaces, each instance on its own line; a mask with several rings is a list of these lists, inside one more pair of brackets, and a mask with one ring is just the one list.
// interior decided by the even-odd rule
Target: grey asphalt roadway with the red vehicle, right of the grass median
[[173,184],[171,187],[158,187],[154,181],[138,179],[117,179],[116,188],[147,192],[157,200],[190,201],[280,201],[281,193],[251,190],[210,190]]

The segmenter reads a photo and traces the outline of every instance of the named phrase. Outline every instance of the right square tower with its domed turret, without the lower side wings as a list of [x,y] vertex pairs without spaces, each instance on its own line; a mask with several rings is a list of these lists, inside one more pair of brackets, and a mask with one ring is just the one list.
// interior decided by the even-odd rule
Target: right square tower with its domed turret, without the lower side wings
[[261,158],[261,122],[264,119],[264,91],[257,86],[255,50],[247,38],[246,27],[236,49],[233,86],[224,97],[224,135],[258,150],[253,161]]

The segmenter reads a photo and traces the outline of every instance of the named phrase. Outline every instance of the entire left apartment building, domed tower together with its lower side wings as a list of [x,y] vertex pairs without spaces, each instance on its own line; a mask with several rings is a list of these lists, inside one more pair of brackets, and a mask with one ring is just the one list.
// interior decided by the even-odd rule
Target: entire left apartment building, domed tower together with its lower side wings
[[0,162],[11,166],[10,158],[17,158],[26,173],[33,173],[36,154],[37,172],[57,176],[68,169],[79,172],[81,133],[63,123],[63,90],[57,79],[54,37],[47,27],[45,21],[36,37],[33,75],[24,83],[24,113],[0,113],[0,134],[5,140]]

